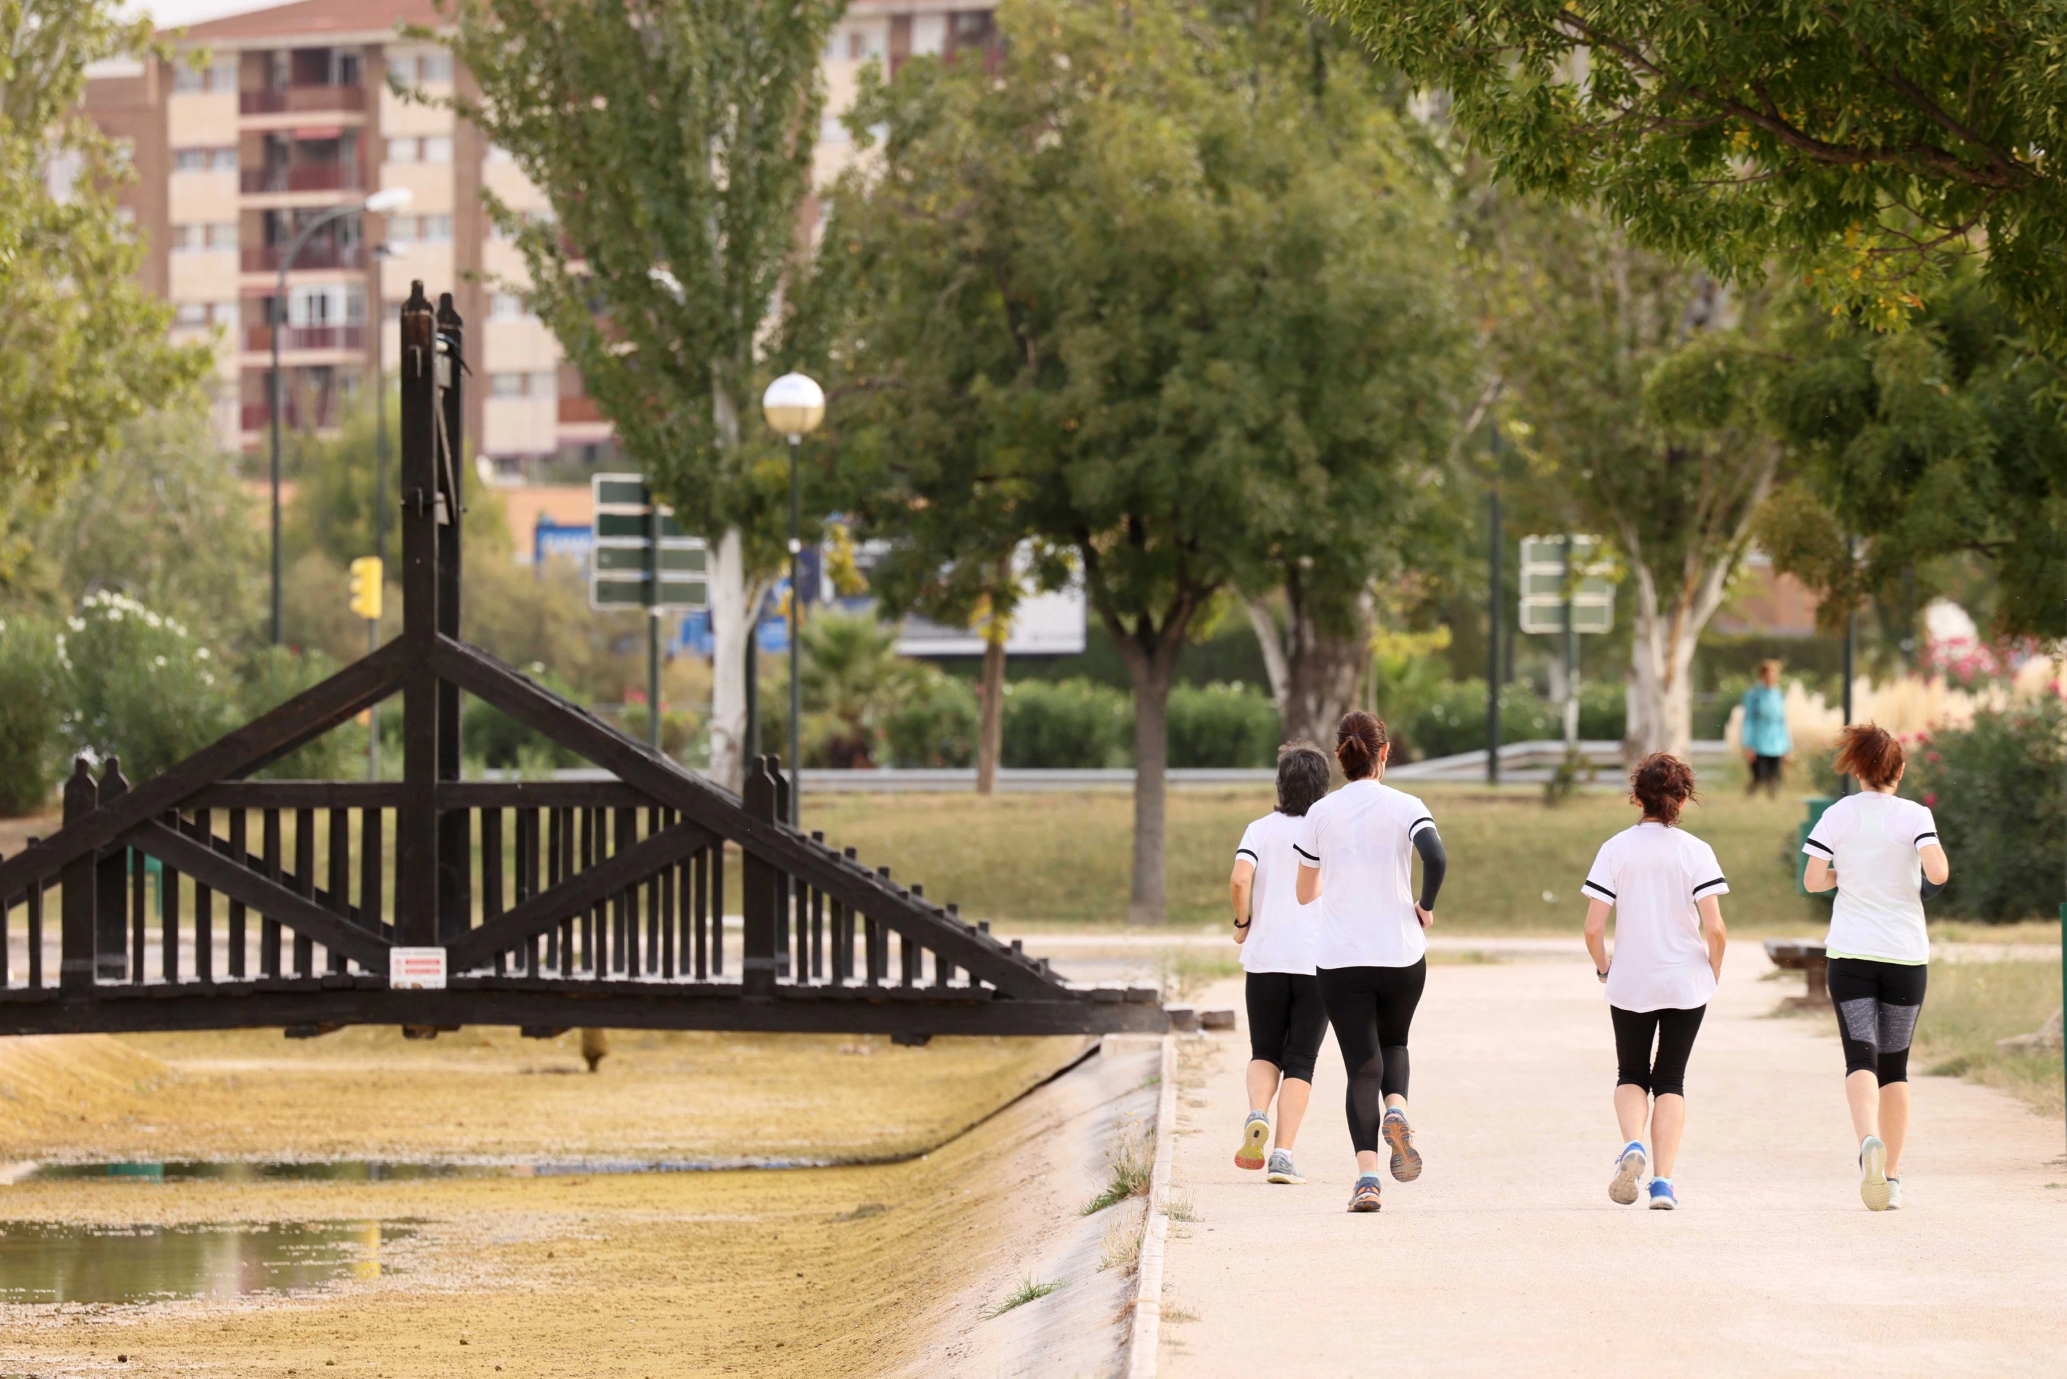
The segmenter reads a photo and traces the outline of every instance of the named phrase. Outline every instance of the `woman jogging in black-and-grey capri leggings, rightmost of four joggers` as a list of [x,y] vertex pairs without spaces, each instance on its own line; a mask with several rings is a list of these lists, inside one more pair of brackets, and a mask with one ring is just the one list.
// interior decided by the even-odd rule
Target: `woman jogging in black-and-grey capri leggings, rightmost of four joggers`
[[1844,1040],[1844,1100],[1858,1135],[1858,1197],[1869,1212],[1902,1205],[1902,1145],[1910,1135],[1910,1038],[1924,1009],[1931,937],[1924,901],[1951,862],[1937,821],[1895,796],[1902,744],[1873,724],[1838,734],[1838,771],[1864,788],[1809,829],[1811,891],[1838,887],[1829,912],[1829,1003]]

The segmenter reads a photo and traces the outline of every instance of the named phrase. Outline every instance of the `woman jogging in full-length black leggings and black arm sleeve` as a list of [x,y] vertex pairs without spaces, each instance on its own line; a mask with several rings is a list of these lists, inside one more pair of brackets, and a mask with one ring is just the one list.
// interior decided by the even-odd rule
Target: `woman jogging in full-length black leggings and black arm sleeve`
[[[1449,860],[1428,808],[1385,786],[1385,724],[1362,709],[1335,728],[1335,761],[1350,784],[1306,810],[1298,848],[1298,899],[1321,901],[1313,963],[1350,1069],[1344,1098],[1356,1147],[1352,1212],[1379,1209],[1379,1137],[1393,1176],[1412,1183],[1422,1158],[1408,1125],[1408,1028],[1428,980],[1434,897]],[[1414,854],[1422,858],[1414,899]]]

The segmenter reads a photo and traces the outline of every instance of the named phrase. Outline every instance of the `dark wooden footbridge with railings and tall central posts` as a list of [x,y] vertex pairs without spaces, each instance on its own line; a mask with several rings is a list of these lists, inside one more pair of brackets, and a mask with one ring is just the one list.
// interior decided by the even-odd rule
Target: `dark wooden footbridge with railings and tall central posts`
[[[1158,992],[1067,984],[792,829],[773,759],[734,796],[461,641],[463,374],[453,300],[432,308],[418,283],[401,308],[403,635],[153,779],[81,759],[62,829],[0,862],[0,1034],[1166,1028]],[[397,693],[403,779],[252,779]],[[616,779],[461,779],[463,693]],[[399,949],[442,951],[444,984],[391,980]]]

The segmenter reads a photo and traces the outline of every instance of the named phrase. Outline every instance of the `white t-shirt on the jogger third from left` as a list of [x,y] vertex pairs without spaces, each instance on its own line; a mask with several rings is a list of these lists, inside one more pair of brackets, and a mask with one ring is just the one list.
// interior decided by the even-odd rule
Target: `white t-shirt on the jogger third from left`
[[1625,1011],[1691,1011],[1716,994],[1701,912],[1728,895],[1716,850],[1680,827],[1643,821],[1600,846],[1579,891],[1614,906],[1608,1005]]

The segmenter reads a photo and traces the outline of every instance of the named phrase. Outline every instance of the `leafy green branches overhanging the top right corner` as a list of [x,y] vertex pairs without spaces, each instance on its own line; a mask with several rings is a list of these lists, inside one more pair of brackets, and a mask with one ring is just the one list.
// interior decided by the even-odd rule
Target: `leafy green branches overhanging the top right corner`
[[1947,258],[2067,345],[2067,8],[2030,0],[1327,0],[1523,190],[1639,244],[1900,320]]

